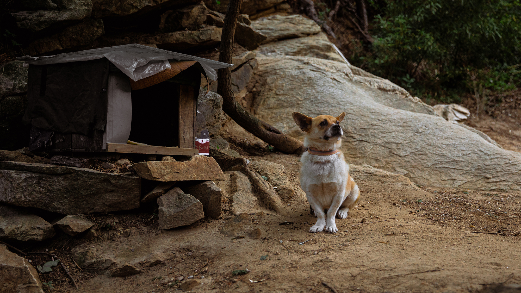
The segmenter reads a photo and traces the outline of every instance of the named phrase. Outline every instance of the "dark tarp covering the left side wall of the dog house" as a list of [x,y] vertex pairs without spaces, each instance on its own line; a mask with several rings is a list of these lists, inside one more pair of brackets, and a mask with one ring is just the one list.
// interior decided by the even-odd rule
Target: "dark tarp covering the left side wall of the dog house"
[[63,133],[104,130],[109,65],[106,58],[30,65],[23,121]]

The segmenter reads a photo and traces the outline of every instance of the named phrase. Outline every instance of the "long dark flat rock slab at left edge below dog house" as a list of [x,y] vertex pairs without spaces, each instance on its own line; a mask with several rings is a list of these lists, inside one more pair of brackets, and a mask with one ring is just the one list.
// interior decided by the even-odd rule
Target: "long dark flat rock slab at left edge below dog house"
[[0,162],[0,202],[61,214],[139,207],[141,178],[92,169]]

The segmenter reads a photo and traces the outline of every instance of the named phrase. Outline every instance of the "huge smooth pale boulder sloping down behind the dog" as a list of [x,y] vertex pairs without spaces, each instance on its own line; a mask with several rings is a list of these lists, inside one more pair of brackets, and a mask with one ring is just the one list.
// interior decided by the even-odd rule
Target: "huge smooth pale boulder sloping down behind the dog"
[[[345,63],[311,57],[257,56],[253,112],[302,138],[292,112],[346,112],[346,161],[368,164],[419,185],[480,190],[521,189],[521,154],[433,114],[395,84]],[[302,84],[306,84],[302,87]]]

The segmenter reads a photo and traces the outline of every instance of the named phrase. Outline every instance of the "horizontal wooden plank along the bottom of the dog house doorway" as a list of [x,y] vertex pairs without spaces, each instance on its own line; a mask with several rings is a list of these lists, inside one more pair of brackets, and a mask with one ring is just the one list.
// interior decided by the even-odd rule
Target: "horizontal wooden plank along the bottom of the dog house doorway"
[[175,146],[135,145],[107,143],[107,152],[157,155],[194,156],[199,154],[197,149],[176,148]]

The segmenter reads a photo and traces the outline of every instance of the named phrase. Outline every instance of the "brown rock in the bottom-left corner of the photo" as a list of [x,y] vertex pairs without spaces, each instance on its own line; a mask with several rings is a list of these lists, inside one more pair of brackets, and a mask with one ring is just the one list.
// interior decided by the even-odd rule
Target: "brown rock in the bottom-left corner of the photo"
[[44,293],[34,267],[4,244],[0,244],[0,272],[3,293]]

